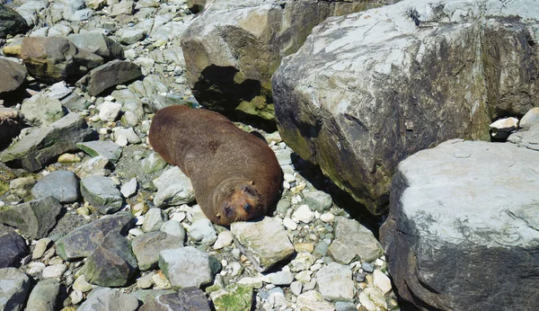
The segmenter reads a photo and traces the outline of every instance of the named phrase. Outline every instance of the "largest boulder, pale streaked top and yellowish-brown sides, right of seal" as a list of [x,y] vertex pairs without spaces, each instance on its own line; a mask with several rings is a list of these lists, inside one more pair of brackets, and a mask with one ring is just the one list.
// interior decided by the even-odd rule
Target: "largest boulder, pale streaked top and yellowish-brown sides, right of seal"
[[411,0],[326,20],[273,76],[281,137],[384,213],[406,156],[488,139],[490,118],[539,102],[539,45],[522,43],[536,37],[533,3]]

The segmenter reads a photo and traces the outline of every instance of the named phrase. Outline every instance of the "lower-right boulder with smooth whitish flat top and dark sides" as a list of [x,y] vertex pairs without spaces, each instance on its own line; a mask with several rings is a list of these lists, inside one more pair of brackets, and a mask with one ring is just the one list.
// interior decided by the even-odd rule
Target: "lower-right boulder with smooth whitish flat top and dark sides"
[[429,310],[535,310],[538,168],[538,151],[461,139],[402,161],[380,229],[402,298]]

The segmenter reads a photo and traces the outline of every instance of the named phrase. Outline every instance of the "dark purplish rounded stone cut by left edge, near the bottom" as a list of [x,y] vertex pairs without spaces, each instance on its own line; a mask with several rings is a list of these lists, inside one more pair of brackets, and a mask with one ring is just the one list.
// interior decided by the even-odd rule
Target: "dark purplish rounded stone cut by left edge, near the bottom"
[[0,232],[0,245],[0,268],[18,268],[30,252],[22,236],[12,230]]

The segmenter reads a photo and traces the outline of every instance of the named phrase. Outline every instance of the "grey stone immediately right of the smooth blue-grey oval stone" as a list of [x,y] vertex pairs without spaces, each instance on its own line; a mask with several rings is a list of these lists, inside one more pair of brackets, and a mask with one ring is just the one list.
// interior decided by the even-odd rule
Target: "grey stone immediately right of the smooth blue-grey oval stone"
[[116,184],[108,177],[91,176],[81,180],[84,200],[92,204],[101,214],[112,214],[123,205],[123,198]]

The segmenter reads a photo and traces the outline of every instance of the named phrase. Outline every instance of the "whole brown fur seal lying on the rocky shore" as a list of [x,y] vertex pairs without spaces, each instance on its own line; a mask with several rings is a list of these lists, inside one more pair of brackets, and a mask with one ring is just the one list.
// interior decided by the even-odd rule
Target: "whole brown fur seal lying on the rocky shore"
[[149,139],[190,177],[200,209],[218,225],[261,217],[278,199],[282,171],[271,148],[217,112],[163,108]]

